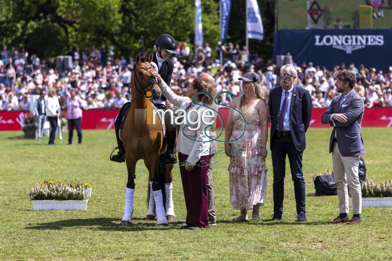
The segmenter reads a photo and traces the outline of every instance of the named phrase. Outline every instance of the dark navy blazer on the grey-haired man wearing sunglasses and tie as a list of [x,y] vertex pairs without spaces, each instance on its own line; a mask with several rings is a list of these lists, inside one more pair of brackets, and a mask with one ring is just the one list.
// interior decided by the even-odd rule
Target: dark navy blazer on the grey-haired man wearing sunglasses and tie
[[[283,87],[279,86],[270,91],[268,107],[271,119],[270,149],[273,147],[273,135],[278,128],[278,114]],[[308,130],[312,116],[312,100],[309,92],[303,88],[294,87],[290,103],[290,131],[296,150],[303,151],[306,147],[305,133]]]

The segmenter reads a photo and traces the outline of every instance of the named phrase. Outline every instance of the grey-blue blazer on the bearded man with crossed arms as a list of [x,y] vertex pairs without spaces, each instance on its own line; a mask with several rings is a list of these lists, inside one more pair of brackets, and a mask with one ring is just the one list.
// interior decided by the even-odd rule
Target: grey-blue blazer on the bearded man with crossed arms
[[[364,100],[351,92],[350,96],[339,107],[343,95],[336,96],[332,99],[328,110],[321,116],[321,122],[330,123],[334,126],[331,138],[329,140],[329,153],[332,152],[333,139],[336,132],[338,148],[343,156],[354,156],[365,154],[364,142],[361,134],[362,117],[364,116]],[[331,114],[345,113],[347,122],[342,123],[337,120],[331,121]]]

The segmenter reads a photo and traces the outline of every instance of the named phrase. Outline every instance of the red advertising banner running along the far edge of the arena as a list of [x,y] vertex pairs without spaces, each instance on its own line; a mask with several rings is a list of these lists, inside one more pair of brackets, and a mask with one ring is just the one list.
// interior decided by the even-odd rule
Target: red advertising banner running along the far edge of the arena
[[[310,127],[329,127],[328,124],[321,124],[321,115],[326,109],[313,109]],[[29,112],[17,111],[7,112],[0,111],[0,131],[21,130],[23,119]],[[113,129],[114,119],[118,110],[87,110],[83,111],[82,129]],[[228,108],[219,109],[224,126],[229,114]],[[222,123],[217,118],[217,128],[221,128]],[[362,127],[391,127],[392,126],[392,109],[365,109]]]

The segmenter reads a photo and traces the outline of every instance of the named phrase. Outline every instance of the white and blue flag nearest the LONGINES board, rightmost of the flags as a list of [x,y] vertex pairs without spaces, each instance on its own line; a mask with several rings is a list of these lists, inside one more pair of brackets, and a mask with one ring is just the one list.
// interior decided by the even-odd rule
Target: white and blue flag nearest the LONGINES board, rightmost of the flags
[[257,0],[246,0],[247,6],[247,35],[248,38],[263,40],[263,22]]

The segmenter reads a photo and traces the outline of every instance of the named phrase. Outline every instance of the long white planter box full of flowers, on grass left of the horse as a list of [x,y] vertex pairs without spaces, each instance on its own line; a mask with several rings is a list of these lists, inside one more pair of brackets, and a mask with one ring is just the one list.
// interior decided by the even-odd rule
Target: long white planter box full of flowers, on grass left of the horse
[[87,210],[87,186],[77,181],[71,184],[61,180],[36,183],[29,193],[33,210]]

